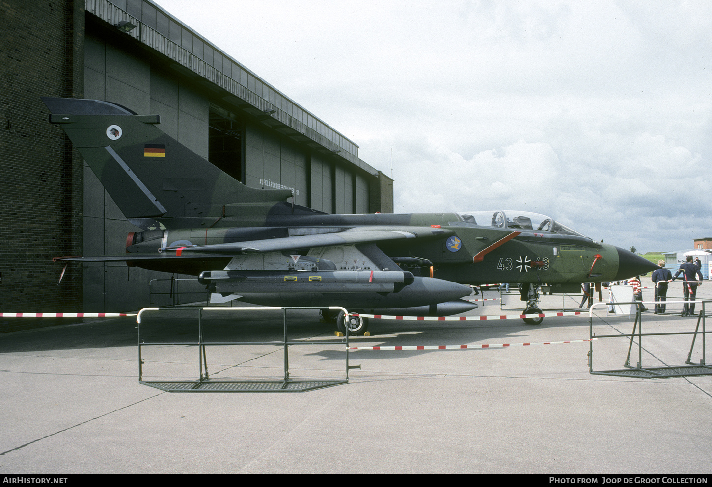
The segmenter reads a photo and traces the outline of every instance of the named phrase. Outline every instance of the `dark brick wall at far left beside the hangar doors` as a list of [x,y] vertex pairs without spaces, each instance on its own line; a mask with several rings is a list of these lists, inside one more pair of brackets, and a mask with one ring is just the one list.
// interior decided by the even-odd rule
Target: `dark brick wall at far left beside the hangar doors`
[[[0,311],[80,311],[83,168],[40,97],[83,97],[81,0],[0,0]],[[46,323],[0,319],[0,331]]]

